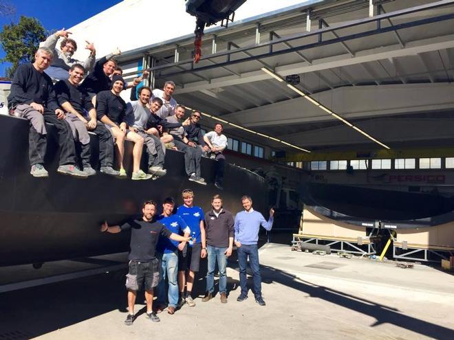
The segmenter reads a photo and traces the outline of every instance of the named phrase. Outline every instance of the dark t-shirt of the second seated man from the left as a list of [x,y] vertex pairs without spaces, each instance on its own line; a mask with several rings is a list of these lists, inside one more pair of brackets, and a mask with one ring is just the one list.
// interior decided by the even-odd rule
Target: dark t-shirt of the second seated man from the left
[[67,79],[60,80],[55,84],[55,93],[60,106],[64,102],[69,102],[74,110],[81,115],[84,115],[84,109],[90,111],[94,108],[87,91],[71,84]]

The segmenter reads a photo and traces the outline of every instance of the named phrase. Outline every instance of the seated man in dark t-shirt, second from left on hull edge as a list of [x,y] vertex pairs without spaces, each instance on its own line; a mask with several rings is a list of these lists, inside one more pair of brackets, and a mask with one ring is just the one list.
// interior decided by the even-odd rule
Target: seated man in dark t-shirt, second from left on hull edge
[[[69,69],[69,79],[60,80],[55,84],[58,104],[65,110],[67,122],[71,126],[74,138],[81,145],[80,158],[82,159],[83,172],[88,176],[96,174],[90,164],[90,137],[88,131],[98,135],[100,171],[111,176],[118,176],[114,170],[114,141],[109,130],[96,120],[96,110],[84,89],[79,84],[83,80],[85,69],[80,64],[74,64]],[[88,117],[85,114],[88,112]]]

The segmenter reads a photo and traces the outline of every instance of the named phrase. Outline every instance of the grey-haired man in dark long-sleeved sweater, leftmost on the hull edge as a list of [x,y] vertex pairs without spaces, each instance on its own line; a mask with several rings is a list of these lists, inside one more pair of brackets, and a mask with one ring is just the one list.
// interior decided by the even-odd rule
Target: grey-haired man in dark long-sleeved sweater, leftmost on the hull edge
[[58,170],[78,178],[87,178],[87,174],[76,168],[76,148],[65,114],[58,107],[52,80],[44,70],[52,63],[53,54],[47,47],[40,47],[34,55],[33,64],[20,65],[14,73],[11,93],[8,95],[8,109],[17,117],[24,117],[30,122],[28,133],[30,174],[34,177],[48,177],[44,168],[44,156],[47,148],[45,123],[51,123],[58,131],[60,160]]

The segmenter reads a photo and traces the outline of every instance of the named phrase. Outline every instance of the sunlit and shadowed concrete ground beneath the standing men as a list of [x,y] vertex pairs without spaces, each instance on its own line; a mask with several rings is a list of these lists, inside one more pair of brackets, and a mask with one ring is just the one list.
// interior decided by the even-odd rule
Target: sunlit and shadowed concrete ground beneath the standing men
[[[260,250],[262,290],[237,302],[235,258],[228,304],[195,299],[160,323],[144,317],[140,296],[125,326],[125,271],[0,294],[0,339],[454,339],[454,275],[416,264],[401,269],[268,244]],[[202,275],[200,275],[202,276]],[[204,278],[196,282],[204,291]]]

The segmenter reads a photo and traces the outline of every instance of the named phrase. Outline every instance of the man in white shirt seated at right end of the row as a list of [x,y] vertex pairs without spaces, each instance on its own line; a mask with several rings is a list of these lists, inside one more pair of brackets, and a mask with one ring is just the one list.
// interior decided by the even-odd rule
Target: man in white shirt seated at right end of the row
[[204,141],[210,148],[210,157],[217,160],[215,167],[215,186],[222,190],[224,181],[224,168],[226,167],[226,157],[222,151],[227,147],[227,137],[222,134],[222,124],[215,124],[215,131],[210,131],[204,135]]

